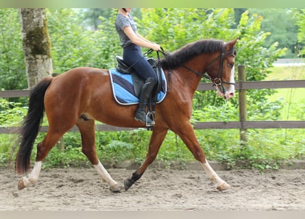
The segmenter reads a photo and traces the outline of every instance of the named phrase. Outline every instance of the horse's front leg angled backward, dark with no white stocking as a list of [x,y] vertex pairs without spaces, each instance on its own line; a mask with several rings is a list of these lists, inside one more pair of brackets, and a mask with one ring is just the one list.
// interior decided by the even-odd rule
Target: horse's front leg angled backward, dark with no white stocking
[[138,179],[140,179],[147,169],[147,167],[154,162],[160,146],[167,135],[168,129],[158,129],[158,127],[154,127],[154,131],[151,133],[151,138],[149,142],[149,148],[146,155],[145,162],[132,174],[130,179],[125,179],[124,187],[125,190],[128,190]]

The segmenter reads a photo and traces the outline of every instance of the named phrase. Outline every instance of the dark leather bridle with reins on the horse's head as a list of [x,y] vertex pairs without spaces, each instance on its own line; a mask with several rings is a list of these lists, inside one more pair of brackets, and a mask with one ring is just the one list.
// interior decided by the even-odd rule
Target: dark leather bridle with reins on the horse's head
[[[223,88],[223,83],[232,84],[232,85],[235,85],[235,83],[229,82],[229,81],[223,81],[221,79],[222,75],[223,75],[222,72],[223,72],[224,56],[225,56],[225,46],[223,46],[223,48],[221,49],[220,55],[218,55],[214,60],[212,60],[212,62],[210,62],[210,64],[208,64],[208,66],[206,66],[206,68],[204,69],[204,73],[200,73],[200,72],[198,72],[196,70],[193,70],[192,68],[189,68],[188,66],[185,66],[185,65],[182,65],[182,66],[184,68],[186,68],[187,70],[190,70],[192,73],[195,73],[196,75],[199,75],[199,76],[205,77],[206,79],[209,79],[210,81],[212,81],[212,86],[219,86],[221,88],[220,91],[223,94],[225,94],[225,88]],[[234,57],[235,57],[235,55],[234,55]],[[210,75],[206,75],[206,73],[208,74],[208,68],[210,68],[210,66],[212,66],[219,58],[220,58],[220,64],[219,64],[217,77],[212,78],[212,77],[210,77]]]

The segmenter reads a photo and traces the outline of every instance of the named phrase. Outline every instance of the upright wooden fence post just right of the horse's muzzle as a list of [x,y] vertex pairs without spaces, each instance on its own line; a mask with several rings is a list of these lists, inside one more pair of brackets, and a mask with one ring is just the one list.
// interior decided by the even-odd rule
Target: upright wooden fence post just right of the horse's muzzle
[[241,140],[241,146],[247,144],[247,129],[245,129],[244,122],[247,121],[247,98],[246,90],[243,89],[243,81],[246,81],[245,66],[237,66],[239,77],[239,120],[241,122],[241,129],[239,130],[239,136]]

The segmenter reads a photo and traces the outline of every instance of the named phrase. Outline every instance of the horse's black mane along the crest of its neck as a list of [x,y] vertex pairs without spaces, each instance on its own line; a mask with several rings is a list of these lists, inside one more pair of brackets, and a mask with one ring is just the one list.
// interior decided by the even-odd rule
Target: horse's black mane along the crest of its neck
[[197,40],[186,44],[184,47],[173,53],[165,53],[165,57],[160,60],[162,68],[174,69],[181,66],[184,62],[190,60],[196,55],[202,53],[212,53],[221,51],[224,42],[222,40]]

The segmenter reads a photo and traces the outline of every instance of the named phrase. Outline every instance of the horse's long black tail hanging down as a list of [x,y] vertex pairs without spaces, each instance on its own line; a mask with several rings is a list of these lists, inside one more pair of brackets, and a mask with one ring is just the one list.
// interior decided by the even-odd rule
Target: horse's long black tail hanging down
[[18,173],[25,173],[29,169],[33,144],[45,112],[45,91],[52,80],[53,77],[42,79],[29,93],[29,110],[21,126],[21,144],[15,162],[15,170]]

